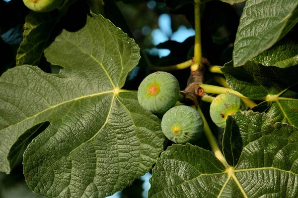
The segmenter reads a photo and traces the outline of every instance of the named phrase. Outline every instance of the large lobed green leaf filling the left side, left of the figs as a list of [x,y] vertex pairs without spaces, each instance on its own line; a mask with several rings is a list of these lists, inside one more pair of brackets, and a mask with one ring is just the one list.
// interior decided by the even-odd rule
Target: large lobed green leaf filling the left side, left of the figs
[[[19,145],[29,144],[23,172],[37,194],[63,198],[112,195],[148,172],[163,150],[160,120],[137,93],[121,90],[140,49],[102,16],[64,30],[45,50],[47,74],[23,65],[0,77],[0,171],[9,173]],[[3,137],[3,138],[2,138]]]

